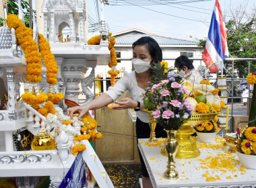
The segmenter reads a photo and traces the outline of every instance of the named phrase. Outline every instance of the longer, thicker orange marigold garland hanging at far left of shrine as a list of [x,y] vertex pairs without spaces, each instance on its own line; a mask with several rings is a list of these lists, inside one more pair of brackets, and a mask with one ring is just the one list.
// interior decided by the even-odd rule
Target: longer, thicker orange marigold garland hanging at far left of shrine
[[27,62],[26,79],[31,85],[29,91],[22,95],[22,99],[30,105],[44,103],[47,100],[47,95],[40,92],[37,84],[42,80],[41,54],[38,52],[38,46],[33,40],[33,30],[27,28],[18,15],[15,14],[7,15],[6,23],[10,29],[13,28],[15,30],[17,42],[22,47]]

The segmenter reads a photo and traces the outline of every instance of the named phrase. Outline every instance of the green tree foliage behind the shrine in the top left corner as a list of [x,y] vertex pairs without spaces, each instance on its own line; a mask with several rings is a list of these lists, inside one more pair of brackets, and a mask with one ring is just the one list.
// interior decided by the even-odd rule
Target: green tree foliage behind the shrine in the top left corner
[[[28,0],[21,0],[22,11],[24,14],[25,25],[30,27],[30,4]],[[33,10],[34,11],[34,10]],[[36,12],[36,11],[34,11]],[[18,0],[7,0],[7,14],[17,14],[19,13],[18,9]],[[0,26],[3,26],[5,19],[0,17]]]

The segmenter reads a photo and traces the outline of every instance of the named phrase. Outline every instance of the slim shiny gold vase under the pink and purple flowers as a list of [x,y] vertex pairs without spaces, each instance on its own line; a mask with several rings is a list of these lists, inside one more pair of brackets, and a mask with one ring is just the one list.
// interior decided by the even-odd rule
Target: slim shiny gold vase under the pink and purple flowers
[[166,154],[168,156],[167,170],[164,172],[165,179],[178,179],[179,173],[175,170],[174,158],[179,148],[179,142],[176,140],[176,130],[165,130],[167,132],[167,138],[164,141]]

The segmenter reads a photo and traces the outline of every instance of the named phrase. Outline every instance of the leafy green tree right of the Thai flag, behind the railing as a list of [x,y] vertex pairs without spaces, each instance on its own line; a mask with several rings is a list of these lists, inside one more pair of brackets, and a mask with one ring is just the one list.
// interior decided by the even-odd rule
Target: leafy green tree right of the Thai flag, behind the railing
[[[228,35],[228,50],[234,58],[255,58],[256,57],[256,13],[246,11],[247,5],[231,7],[231,19],[226,21],[226,32]],[[199,40],[198,46],[205,48],[206,40]],[[226,61],[225,68],[230,69],[232,62]],[[248,62],[235,61],[234,68],[238,71],[239,77],[248,75]],[[256,63],[251,62],[251,72],[256,72]]]

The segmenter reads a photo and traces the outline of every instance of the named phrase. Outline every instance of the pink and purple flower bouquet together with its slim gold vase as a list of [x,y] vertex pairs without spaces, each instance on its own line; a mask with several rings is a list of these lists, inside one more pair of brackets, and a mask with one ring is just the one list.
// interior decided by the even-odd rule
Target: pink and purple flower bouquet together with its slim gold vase
[[[148,111],[152,111],[154,120],[167,132],[164,142],[168,156],[167,170],[164,178],[177,179],[179,173],[175,170],[174,157],[178,151],[179,142],[176,132],[191,117],[192,109],[187,98],[187,90],[183,88],[183,77],[166,71],[165,62],[152,66],[152,83],[143,93],[143,102]],[[151,112],[150,112],[151,113]]]

